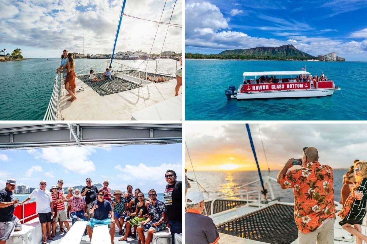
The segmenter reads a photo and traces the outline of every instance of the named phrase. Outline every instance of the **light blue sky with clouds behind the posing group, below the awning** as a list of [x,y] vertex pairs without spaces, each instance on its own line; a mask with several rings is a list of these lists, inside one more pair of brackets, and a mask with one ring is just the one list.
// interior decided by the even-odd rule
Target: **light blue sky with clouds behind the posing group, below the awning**
[[32,150],[0,151],[0,187],[9,178],[27,187],[39,187],[41,179],[47,188],[63,179],[64,187],[110,181],[111,189],[126,191],[127,184],[143,192],[164,192],[164,173],[173,169],[182,179],[182,144],[128,145],[122,147],[49,147]]

